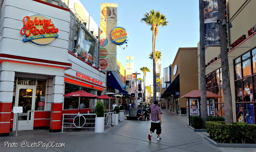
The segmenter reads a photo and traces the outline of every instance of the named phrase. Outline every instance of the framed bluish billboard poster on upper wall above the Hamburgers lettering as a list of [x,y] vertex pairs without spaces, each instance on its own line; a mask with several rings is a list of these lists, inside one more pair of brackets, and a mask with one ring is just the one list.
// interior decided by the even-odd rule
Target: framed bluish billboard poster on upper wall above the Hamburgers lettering
[[78,41],[76,42],[77,53],[92,61],[95,41],[83,28],[79,29]]

